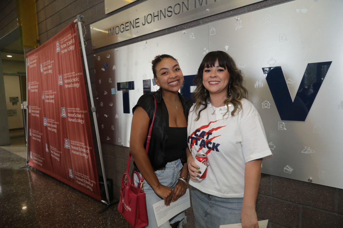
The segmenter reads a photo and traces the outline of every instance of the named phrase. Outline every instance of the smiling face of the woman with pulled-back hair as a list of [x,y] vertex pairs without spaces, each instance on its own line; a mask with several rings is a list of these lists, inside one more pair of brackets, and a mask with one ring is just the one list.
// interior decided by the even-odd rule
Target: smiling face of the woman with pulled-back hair
[[162,90],[177,92],[184,81],[184,75],[179,63],[172,58],[163,58],[156,67],[156,77],[154,80]]

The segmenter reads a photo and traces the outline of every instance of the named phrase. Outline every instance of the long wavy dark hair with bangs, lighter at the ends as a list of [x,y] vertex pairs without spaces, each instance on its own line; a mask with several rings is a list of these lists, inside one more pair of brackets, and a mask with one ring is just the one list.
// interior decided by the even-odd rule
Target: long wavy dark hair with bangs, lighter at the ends
[[[248,99],[248,90],[243,86],[243,76],[241,71],[237,68],[234,59],[223,51],[209,52],[202,59],[198,73],[193,80],[194,84],[197,86],[193,93],[193,99],[196,103],[194,107],[197,113],[196,120],[199,120],[200,112],[207,108],[207,105],[210,101],[210,94],[209,92],[205,92],[205,86],[202,84],[202,74],[204,68],[213,67],[217,60],[219,66],[227,69],[230,74],[229,83],[231,84],[230,86],[227,86],[227,95],[230,93],[231,95],[227,96],[227,98],[224,100],[224,104],[226,107],[228,107],[229,103],[233,104],[234,110],[231,112],[231,115],[234,116],[237,110],[241,110],[242,98]],[[203,107],[200,109],[201,105],[203,105]]]

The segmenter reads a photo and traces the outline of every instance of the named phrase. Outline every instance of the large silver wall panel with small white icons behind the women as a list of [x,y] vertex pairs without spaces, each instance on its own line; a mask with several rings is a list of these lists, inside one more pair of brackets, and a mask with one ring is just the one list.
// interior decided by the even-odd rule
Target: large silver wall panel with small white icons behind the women
[[[263,162],[262,172],[343,188],[342,11],[340,0],[296,0],[130,44],[97,54],[96,78],[108,84],[111,77],[115,88],[117,82],[134,81],[135,89],[129,92],[132,109],[143,94],[142,80],[153,78],[151,60],[155,55],[175,56],[187,76],[196,73],[208,51],[226,51],[244,73],[249,98],[261,115],[274,154]],[[111,55],[108,59],[107,53]],[[102,71],[104,61],[111,64]],[[301,80],[307,65],[331,61],[306,120],[282,120],[262,68],[281,67],[285,80],[293,82],[288,90],[294,100],[304,84]],[[104,129],[114,125],[115,130],[109,134],[111,131],[100,129],[102,142],[129,146],[132,111],[122,112],[122,92],[104,95],[105,85],[96,83],[98,104],[111,101],[115,105],[107,118],[98,106],[98,124],[104,124]]]

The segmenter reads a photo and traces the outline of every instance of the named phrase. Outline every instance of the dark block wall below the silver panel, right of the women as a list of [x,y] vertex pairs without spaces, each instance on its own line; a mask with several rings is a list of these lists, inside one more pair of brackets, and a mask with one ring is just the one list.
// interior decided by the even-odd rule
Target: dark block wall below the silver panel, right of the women
[[343,190],[262,174],[256,210],[270,228],[341,228]]

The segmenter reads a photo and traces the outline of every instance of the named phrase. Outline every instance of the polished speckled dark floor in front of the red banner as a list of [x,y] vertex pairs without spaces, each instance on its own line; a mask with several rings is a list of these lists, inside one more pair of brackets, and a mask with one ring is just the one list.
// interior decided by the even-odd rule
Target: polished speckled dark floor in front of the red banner
[[1,228],[130,227],[116,204],[106,206],[32,167],[20,169],[25,144],[25,137],[17,137],[0,147]]

